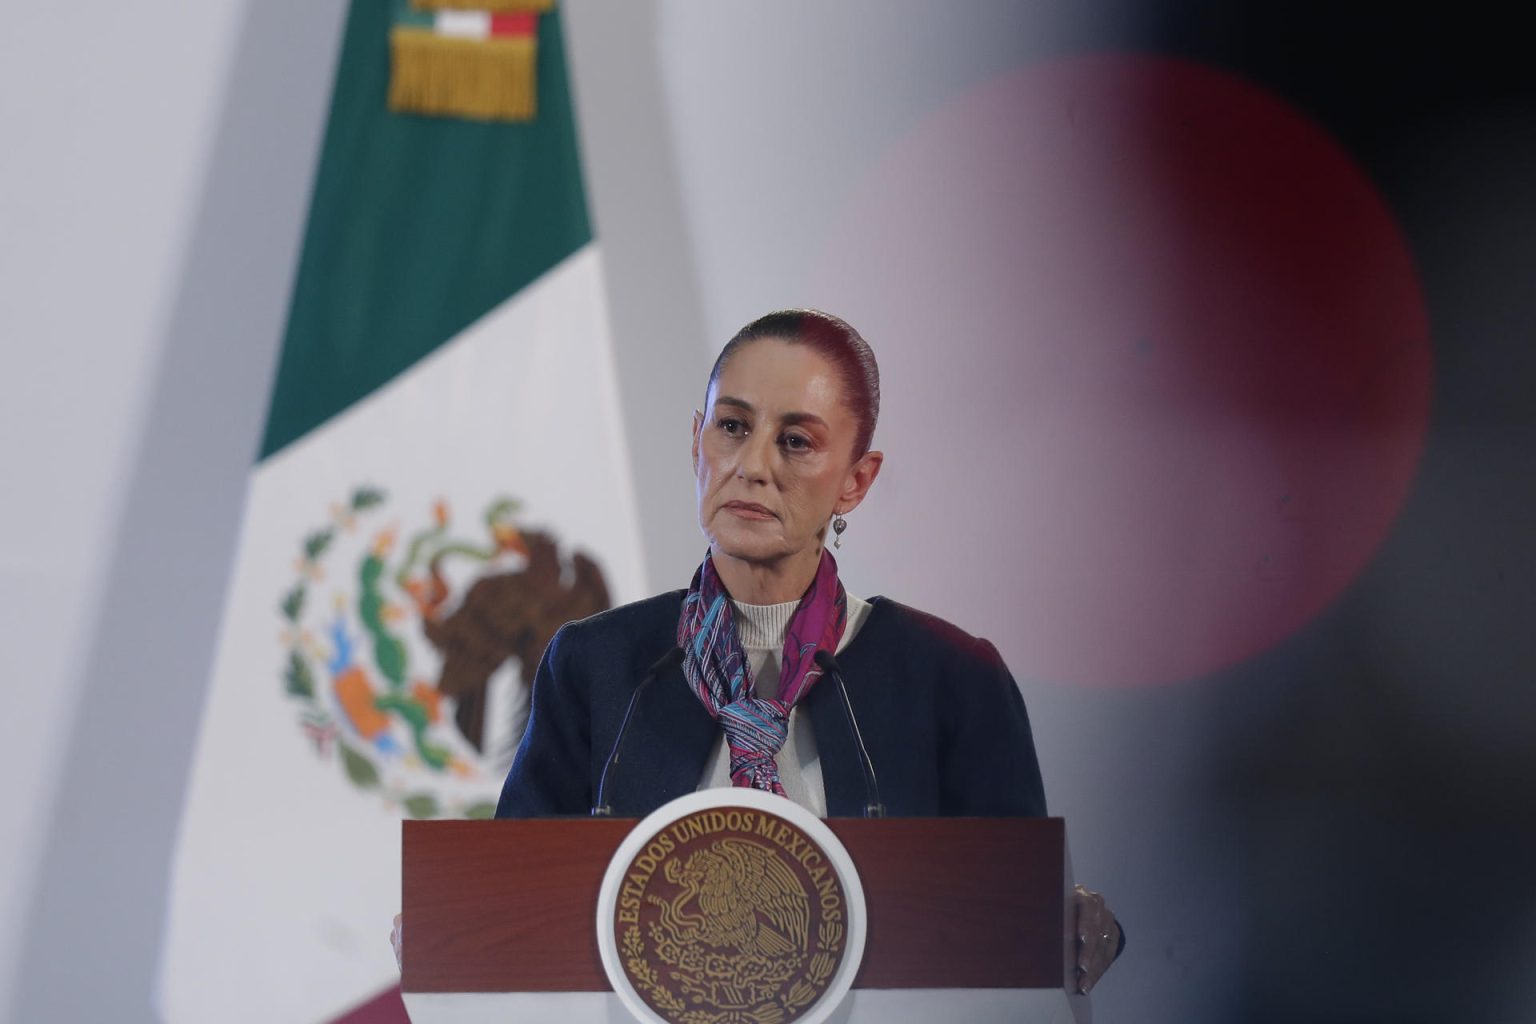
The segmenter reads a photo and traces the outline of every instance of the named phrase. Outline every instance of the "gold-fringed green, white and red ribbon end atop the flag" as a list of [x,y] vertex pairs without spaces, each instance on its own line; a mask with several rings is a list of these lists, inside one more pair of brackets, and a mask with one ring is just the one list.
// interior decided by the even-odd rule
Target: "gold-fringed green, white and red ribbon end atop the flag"
[[554,0],[412,0],[390,31],[390,111],[533,118],[538,18],[553,6]]

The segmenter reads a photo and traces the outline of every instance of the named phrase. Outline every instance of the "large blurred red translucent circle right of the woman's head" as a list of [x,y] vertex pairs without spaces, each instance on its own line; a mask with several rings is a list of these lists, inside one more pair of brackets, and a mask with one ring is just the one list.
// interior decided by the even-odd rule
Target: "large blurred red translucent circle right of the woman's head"
[[[946,104],[851,198],[816,293],[905,410],[903,502],[994,539],[943,557],[1017,611],[1025,676],[1269,648],[1367,563],[1422,448],[1402,232],[1316,123],[1210,68],[1077,57]],[[966,451],[925,448],[940,413]]]

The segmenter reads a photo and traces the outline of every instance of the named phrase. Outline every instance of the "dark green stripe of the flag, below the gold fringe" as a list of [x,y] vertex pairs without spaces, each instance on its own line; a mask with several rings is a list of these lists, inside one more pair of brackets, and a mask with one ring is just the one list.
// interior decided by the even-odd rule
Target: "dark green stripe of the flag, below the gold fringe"
[[591,241],[559,12],[525,124],[390,114],[395,14],[347,17],[263,459]]

